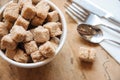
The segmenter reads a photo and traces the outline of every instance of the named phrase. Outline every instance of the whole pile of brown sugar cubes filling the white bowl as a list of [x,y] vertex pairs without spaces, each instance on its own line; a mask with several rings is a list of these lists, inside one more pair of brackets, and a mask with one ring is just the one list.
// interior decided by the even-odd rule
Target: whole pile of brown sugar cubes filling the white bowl
[[20,63],[40,62],[55,55],[62,34],[60,16],[44,0],[9,3],[0,21],[0,48]]

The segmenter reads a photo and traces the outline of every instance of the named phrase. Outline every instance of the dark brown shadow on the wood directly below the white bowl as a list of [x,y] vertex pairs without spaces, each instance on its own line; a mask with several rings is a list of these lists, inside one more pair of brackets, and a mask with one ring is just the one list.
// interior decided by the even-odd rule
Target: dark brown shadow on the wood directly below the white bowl
[[[12,73],[16,75],[17,80],[51,80],[53,75],[53,66],[51,63],[39,68],[19,68],[11,65]],[[52,74],[52,75],[51,75]]]

